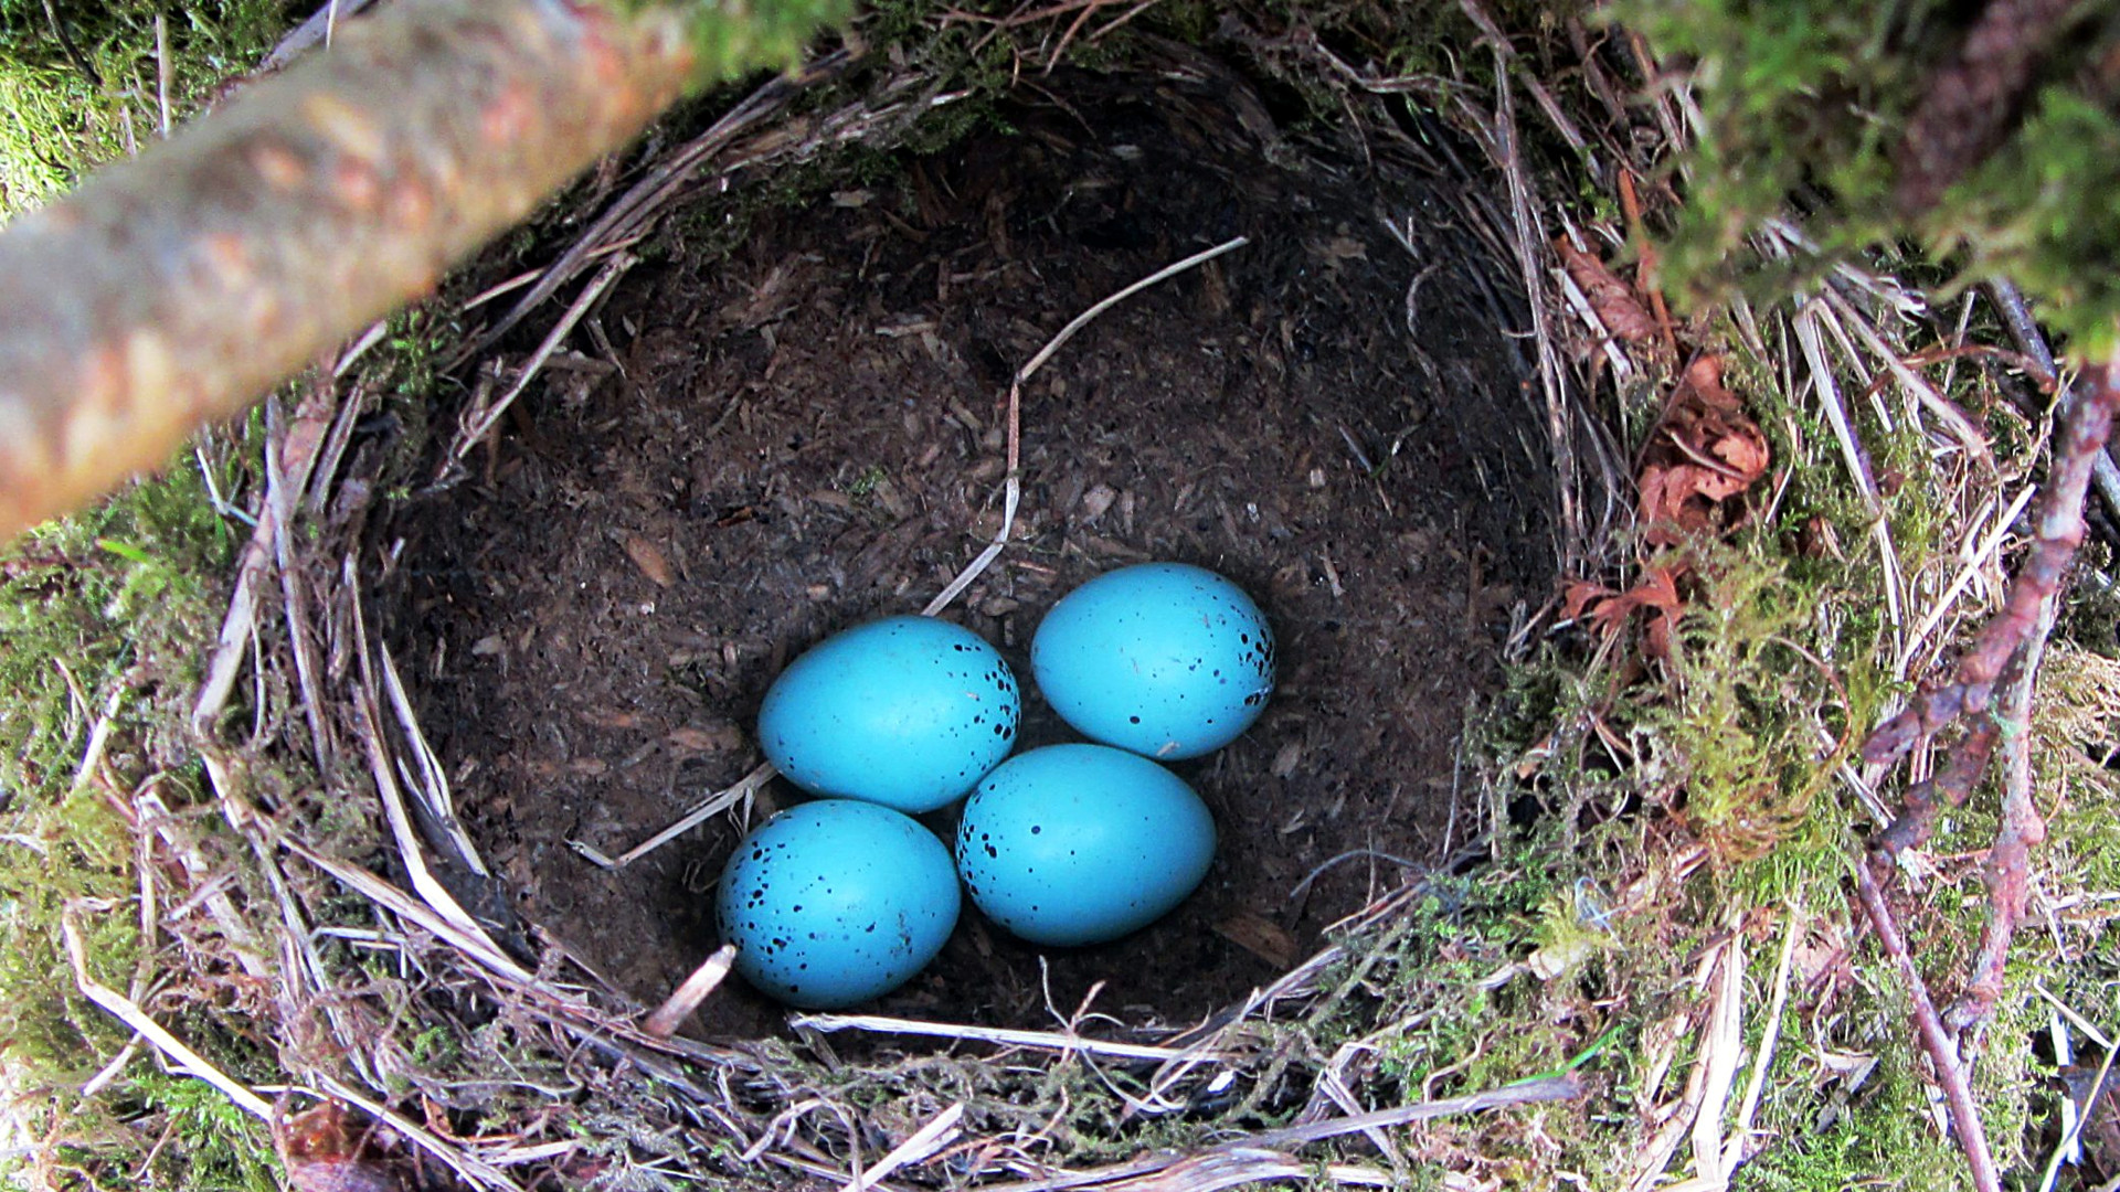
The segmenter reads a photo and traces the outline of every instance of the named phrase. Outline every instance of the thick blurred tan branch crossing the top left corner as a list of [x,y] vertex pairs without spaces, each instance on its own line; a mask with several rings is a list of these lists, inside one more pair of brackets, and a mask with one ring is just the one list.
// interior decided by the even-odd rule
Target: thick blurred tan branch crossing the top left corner
[[401,0],[0,235],[0,541],[163,462],[625,144],[670,8]]

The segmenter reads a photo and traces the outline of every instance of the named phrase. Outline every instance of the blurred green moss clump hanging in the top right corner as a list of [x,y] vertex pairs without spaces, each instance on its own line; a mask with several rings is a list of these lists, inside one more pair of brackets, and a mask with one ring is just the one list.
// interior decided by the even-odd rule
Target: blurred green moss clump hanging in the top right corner
[[[1704,136],[1675,172],[1683,210],[1666,255],[1696,301],[1730,286],[1779,295],[1834,261],[1919,242],[1944,278],[2014,276],[2082,354],[2109,350],[2120,316],[2120,125],[2084,64],[2107,53],[2109,17],[2088,17],[2033,83],[2022,121],[1925,212],[1895,206],[1893,157],[1980,6],[1916,0],[1628,0],[1615,19],[1664,62],[1692,64]],[[1768,216],[1815,244],[1755,255]],[[1891,267],[1891,265],[1887,265]],[[1936,271],[1938,265],[1929,265]]]

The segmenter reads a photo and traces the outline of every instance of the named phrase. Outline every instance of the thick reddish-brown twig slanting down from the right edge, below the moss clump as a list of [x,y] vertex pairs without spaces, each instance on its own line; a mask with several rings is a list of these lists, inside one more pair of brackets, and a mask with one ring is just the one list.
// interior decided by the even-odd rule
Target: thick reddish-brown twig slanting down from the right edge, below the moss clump
[[2039,626],[2039,604],[2061,590],[2075,547],[2084,541],[2084,490],[2090,467],[2112,433],[2114,409],[2120,407],[2120,375],[2112,365],[2084,373],[2084,386],[2061,411],[2061,435],[2054,439],[2054,462],[2039,496],[2037,532],[2031,554],[2003,607],[1974,638],[1959,660],[1953,683],[1916,694],[1906,711],[1885,721],[1868,742],[1863,761],[1889,766],[1904,757],[1916,740],[1955,721],[1963,713],[1989,706],[2003,666],[2022,649]]

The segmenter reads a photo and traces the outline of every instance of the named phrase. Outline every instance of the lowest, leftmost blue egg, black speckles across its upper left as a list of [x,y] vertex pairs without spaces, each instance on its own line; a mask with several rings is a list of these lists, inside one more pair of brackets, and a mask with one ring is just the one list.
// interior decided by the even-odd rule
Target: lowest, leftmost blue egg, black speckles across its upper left
[[882,997],[956,927],[950,848],[901,812],[859,800],[789,808],[744,838],[714,914],[736,971],[803,1010]]

